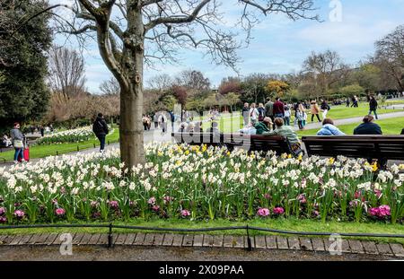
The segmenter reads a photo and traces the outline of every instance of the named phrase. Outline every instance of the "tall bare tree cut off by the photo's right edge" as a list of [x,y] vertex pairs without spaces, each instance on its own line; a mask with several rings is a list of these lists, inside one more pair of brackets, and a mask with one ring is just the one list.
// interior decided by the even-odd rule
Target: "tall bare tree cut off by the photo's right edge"
[[404,25],[400,25],[386,37],[376,42],[375,65],[388,74],[397,89],[404,91]]

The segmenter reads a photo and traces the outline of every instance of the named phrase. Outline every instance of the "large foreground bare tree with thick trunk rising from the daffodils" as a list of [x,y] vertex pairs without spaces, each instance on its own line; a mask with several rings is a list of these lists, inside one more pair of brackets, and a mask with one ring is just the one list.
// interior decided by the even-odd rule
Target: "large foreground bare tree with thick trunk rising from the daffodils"
[[[145,161],[142,113],[144,63],[175,60],[180,48],[201,48],[216,64],[235,68],[240,44],[222,28],[218,0],[75,0],[75,20],[58,31],[79,40],[95,32],[101,57],[120,85],[120,153],[131,169]],[[283,13],[291,20],[318,20],[312,0],[238,0],[241,25],[250,29],[259,15]],[[60,5],[57,5],[60,6]]]

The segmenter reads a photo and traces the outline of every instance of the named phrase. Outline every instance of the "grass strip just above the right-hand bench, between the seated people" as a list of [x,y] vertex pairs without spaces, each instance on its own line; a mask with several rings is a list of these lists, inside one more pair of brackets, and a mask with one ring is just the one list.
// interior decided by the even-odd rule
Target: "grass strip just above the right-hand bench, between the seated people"
[[[353,135],[354,129],[361,122],[338,126],[338,128],[347,135]],[[400,135],[401,129],[404,128],[404,118],[388,118],[375,120],[375,123],[382,127],[383,135]],[[316,135],[320,129],[310,129],[298,131],[297,135]]]

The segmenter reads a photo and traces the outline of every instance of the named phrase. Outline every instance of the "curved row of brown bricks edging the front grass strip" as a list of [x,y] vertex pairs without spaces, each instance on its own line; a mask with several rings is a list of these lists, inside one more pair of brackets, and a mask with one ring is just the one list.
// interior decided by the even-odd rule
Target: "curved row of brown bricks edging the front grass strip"
[[[0,235],[0,246],[60,245],[62,233],[38,233]],[[74,245],[106,245],[108,234],[72,233]],[[255,236],[250,237],[252,248],[288,249],[314,252],[328,251],[330,242],[322,238]],[[206,248],[248,248],[247,236],[174,234],[174,233],[116,233],[112,236],[115,246],[165,246]],[[342,240],[342,252],[404,257],[404,247],[399,243],[378,243],[364,240]]]

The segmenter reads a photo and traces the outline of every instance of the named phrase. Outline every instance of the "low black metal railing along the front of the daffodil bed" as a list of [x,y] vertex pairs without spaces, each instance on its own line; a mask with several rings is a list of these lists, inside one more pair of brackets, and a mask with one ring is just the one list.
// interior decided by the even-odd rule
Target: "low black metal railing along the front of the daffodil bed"
[[301,236],[330,236],[337,234],[345,237],[368,237],[368,238],[400,238],[404,239],[404,234],[386,234],[386,233],[356,233],[356,232],[324,232],[324,231],[285,231],[271,228],[260,228],[255,226],[229,226],[229,227],[213,227],[213,228],[198,228],[198,229],[183,229],[183,228],[159,228],[145,226],[130,226],[130,225],[115,225],[112,222],[108,224],[27,224],[27,225],[0,225],[1,230],[10,229],[32,229],[32,228],[108,228],[108,248],[112,248],[113,229],[125,229],[136,231],[177,231],[177,232],[200,232],[200,231],[231,231],[245,230],[247,235],[248,250],[252,250],[250,231],[266,231],[279,234],[292,234]]

